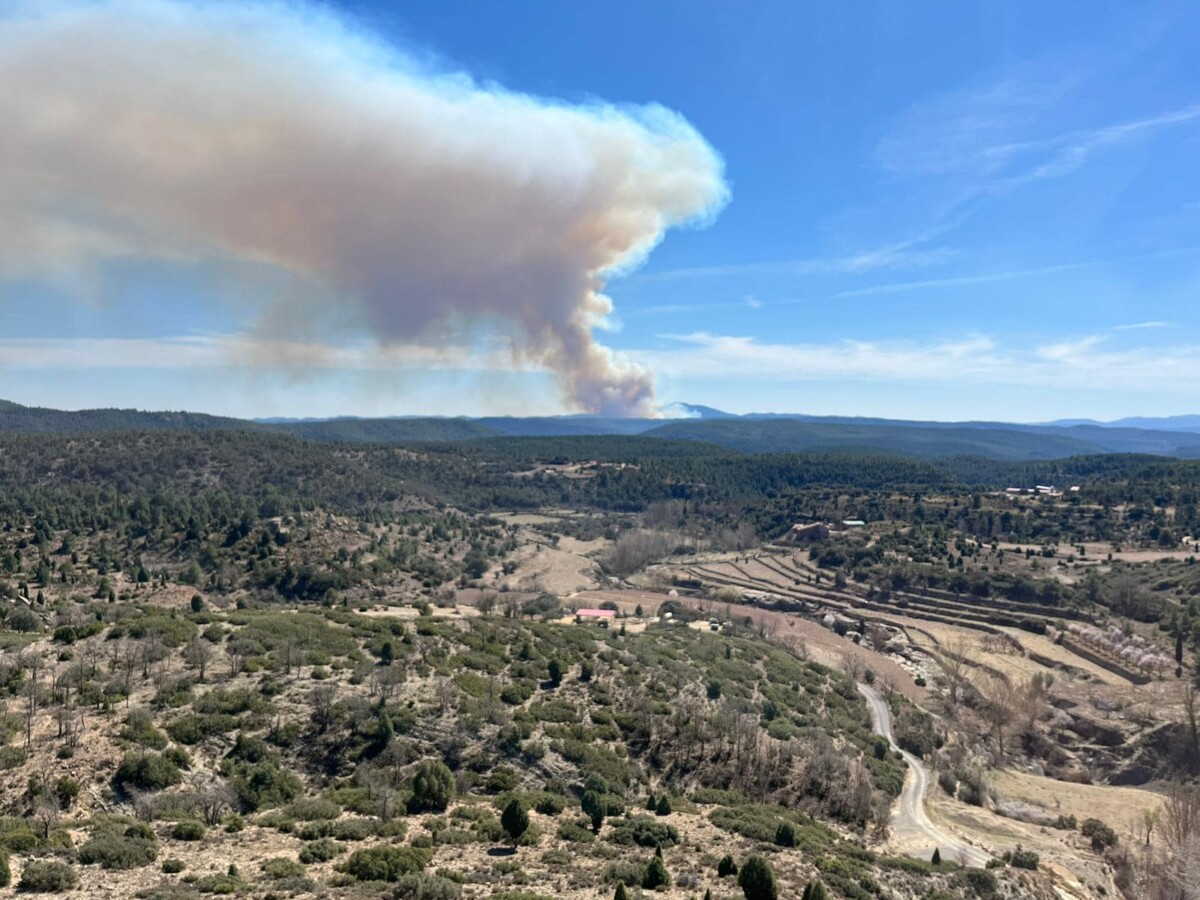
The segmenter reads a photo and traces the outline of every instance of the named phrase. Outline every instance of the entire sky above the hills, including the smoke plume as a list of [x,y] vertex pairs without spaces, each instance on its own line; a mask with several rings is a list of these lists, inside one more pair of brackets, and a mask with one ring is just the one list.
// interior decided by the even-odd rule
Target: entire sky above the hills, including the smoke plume
[[1187,414],[1198,28],[1171,4],[5,4],[0,396]]

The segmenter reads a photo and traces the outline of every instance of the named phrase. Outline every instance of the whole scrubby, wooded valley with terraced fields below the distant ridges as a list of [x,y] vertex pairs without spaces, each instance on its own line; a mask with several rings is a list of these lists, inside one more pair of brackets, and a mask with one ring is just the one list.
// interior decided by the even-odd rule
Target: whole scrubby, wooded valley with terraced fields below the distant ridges
[[1195,898],[1195,464],[2,450],[0,894]]

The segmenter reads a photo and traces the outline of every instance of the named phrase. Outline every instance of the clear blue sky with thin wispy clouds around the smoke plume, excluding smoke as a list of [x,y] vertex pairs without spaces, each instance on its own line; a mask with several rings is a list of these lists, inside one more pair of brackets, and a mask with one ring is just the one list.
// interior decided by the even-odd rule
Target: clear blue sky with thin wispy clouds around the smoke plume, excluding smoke
[[[604,288],[596,338],[654,373],[659,402],[1021,421],[1200,409],[1194,4],[337,14],[481,85],[660,104],[724,160],[724,208]],[[257,265],[124,253],[55,277],[0,257],[0,396],[236,415],[568,410],[546,366],[498,361],[486,322],[469,352],[428,366],[380,361],[350,332],[318,366],[246,362],[253,298],[298,278]]]

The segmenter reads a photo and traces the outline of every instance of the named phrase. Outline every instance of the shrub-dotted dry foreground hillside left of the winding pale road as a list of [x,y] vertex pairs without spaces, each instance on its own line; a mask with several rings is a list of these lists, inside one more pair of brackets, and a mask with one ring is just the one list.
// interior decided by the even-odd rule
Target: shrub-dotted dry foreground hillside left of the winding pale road
[[13,883],[58,860],[95,896],[594,898],[659,851],[664,896],[739,895],[726,854],[784,896],[967,884],[868,848],[902,766],[851,680],[752,629],[85,606],[71,638],[8,635]]

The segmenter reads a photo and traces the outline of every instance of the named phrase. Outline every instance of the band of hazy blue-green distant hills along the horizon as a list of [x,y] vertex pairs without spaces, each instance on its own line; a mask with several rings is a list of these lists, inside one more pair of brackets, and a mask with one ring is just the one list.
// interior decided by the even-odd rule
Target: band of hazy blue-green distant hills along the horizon
[[[697,440],[740,452],[853,451],[920,458],[979,456],[1038,461],[1099,454],[1151,454],[1200,458],[1200,416],[1117,422],[1063,420],[1042,425],[936,422],[866,416],[776,413],[734,415],[713,407],[676,403],[659,419],[560,416],[395,416],[245,420],[188,412],[84,409],[66,412],[0,401],[2,433],[242,430],[305,440],[355,444],[458,442],[480,438],[644,436]],[[1144,427],[1122,422],[1144,422]],[[1177,422],[1170,430],[1168,422]],[[1195,430],[1189,426],[1195,425]]]

